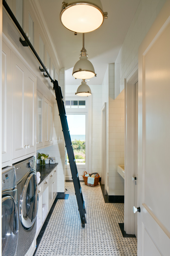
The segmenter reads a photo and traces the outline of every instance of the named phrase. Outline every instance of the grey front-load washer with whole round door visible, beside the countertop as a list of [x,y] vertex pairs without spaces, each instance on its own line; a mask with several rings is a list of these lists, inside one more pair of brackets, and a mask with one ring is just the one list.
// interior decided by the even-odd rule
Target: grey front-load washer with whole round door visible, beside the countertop
[[16,171],[19,231],[17,256],[24,256],[36,234],[38,211],[38,182],[35,157],[13,165]]

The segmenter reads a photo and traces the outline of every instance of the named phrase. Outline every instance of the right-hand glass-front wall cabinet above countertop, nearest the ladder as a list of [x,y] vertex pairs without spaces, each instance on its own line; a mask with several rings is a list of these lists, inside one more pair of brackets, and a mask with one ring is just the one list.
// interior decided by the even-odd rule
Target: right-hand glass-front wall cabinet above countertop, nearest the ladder
[[53,144],[53,104],[44,97],[44,146]]

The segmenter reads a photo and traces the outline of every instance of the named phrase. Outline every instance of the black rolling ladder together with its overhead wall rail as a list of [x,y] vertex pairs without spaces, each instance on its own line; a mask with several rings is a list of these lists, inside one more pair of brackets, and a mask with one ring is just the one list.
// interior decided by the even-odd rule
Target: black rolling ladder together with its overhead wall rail
[[24,38],[24,40],[23,40],[20,37],[20,42],[22,43],[22,45],[24,47],[28,47],[28,46],[30,47],[33,54],[36,56],[39,63],[43,67],[43,68],[39,67],[39,70],[41,72],[44,72],[44,77],[48,77],[50,79],[50,81],[53,83],[53,89],[55,90],[56,101],[57,101],[57,105],[58,105],[58,111],[59,111],[59,115],[60,115],[62,129],[63,129],[65,145],[66,145],[67,154],[68,154],[68,157],[69,157],[69,163],[70,163],[70,169],[71,169],[71,174],[72,174],[72,179],[73,179],[73,184],[74,184],[74,189],[75,189],[75,195],[76,195],[76,198],[77,198],[77,204],[78,204],[78,208],[79,208],[82,227],[84,228],[85,224],[87,223],[86,222],[86,217],[85,217],[86,209],[85,209],[85,206],[84,206],[84,200],[83,200],[83,195],[82,195],[82,192],[81,192],[79,174],[78,174],[77,166],[76,166],[76,163],[75,163],[75,158],[74,158],[74,152],[73,152],[72,142],[71,142],[71,138],[70,138],[69,127],[68,127],[68,124],[67,124],[67,116],[65,114],[65,107],[64,107],[61,87],[58,86],[58,82],[56,80],[54,81],[52,79],[52,77],[50,76],[50,74],[48,73],[48,70],[46,69],[45,65],[41,61],[41,59],[40,59],[39,55],[37,54],[36,50],[33,48],[31,42],[27,38],[25,32],[23,31],[23,29],[20,26],[18,20],[15,18],[13,12],[11,11],[10,7],[7,5],[5,0],[3,0],[3,6],[7,10],[8,14],[12,18],[14,24],[16,25],[16,27],[20,31],[22,37]]

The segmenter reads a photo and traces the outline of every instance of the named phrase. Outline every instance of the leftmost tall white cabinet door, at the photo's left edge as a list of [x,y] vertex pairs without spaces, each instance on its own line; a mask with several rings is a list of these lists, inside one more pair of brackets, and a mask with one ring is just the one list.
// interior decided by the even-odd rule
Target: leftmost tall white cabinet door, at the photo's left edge
[[11,50],[2,41],[2,163],[10,161],[12,138]]

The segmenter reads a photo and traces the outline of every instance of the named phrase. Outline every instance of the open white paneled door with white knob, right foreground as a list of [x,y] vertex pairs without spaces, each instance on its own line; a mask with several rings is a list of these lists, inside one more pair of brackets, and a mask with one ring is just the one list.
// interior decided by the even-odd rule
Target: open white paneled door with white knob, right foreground
[[170,255],[170,1],[139,47],[138,256]]

